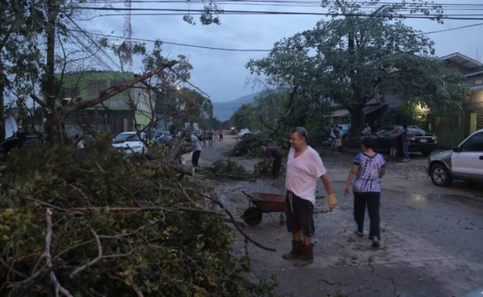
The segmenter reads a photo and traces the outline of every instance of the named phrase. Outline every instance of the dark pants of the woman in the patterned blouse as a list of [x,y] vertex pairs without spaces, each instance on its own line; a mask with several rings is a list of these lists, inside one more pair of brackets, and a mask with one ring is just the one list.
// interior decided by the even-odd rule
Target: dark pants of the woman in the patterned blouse
[[374,236],[381,239],[379,230],[379,207],[380,207],[381,193],[378,192],[354,192],[354,220],[357,223],[359,232],[364,230],[364,214],[365,206],[368,207],[369,220],[371,226],[369,229],[369,238]]

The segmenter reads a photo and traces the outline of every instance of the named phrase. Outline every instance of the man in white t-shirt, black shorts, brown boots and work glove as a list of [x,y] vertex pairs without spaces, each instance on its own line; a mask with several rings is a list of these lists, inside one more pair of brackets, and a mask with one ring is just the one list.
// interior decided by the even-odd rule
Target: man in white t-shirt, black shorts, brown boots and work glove
[[294,128],[290,134],[290,145],[285,188],[287,230],[292,233],[293,240],[292,250],[283,254],[282,258],[298,259],[295,266],[305,266],[314,261],[312,235],[315,231],[313,217],[317,179],[322,180],[329,195],[327,201],[331,211],[337,200],[319,154],[307,145],[307,130]]

